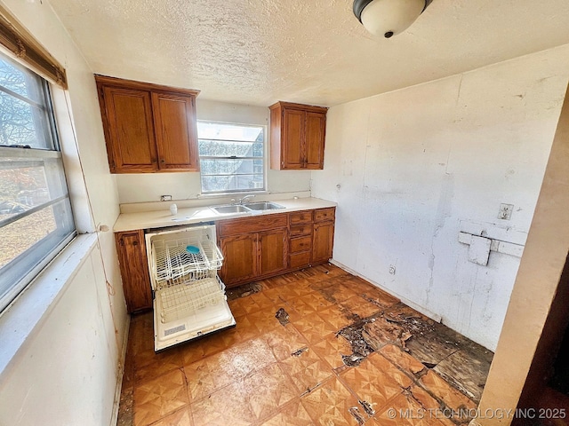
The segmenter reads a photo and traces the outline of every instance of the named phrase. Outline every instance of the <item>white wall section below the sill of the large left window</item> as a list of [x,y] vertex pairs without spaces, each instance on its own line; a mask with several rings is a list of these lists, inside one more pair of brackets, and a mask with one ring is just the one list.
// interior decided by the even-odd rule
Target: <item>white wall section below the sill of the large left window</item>
[[[68,263],[77,262],[74,258]],[[110,424],[116,388],[116,341],[101,281],[100,253],[94,246],[28,335],[17,357],[2,371],[0,424]],[[40,290],[33,288],[28,293]]]

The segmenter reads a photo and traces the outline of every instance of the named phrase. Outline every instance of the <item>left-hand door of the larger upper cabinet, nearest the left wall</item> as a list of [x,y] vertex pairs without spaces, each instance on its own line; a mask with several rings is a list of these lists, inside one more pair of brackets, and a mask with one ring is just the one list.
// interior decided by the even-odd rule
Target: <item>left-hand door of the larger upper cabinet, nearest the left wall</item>
[[103,123],[111,172],[158,169],[149,91],[105,86]]

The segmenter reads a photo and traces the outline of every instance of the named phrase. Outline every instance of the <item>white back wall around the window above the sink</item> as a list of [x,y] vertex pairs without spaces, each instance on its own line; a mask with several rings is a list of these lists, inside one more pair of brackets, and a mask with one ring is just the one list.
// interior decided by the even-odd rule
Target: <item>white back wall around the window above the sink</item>
[[[197,98],[198,120],[238,122],[267,126],[268,107],[228,104]],[[267,161],[268,168],[268,161]],[[160,201],[160,195],[172,195],[173,200],[196,199],[201,193],[200,175],[193,173],[150,173],[116,175],[121,204],[131,202]],[[310,190],[310,172],[305,170],[270,170],[267,173],[270,193],[292,193]]]

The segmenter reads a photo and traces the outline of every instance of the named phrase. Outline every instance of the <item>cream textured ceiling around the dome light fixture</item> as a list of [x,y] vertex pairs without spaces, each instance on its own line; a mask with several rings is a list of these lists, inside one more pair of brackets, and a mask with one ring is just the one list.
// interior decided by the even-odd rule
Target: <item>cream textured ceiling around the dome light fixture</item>
[[569,43],[567,0],[434,0],[389,40],[351,0],[49,0],[93,71],[334,106]]

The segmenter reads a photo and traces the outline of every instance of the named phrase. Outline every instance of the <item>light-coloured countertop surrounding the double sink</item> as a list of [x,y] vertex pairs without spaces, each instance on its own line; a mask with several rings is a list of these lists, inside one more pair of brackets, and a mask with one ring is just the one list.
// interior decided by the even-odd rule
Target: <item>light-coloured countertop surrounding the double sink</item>
[[[211,209],[210,207],[194,207],[194,208],[179,208],[178,214],[175,216],[172,216],[169,209],[143,211],[138,213],[123,213],[116,219],[116,223],[113,226],[113,231],[118,233],[124,231],[135,231],[138,229],[163,228],[175,225],[191,225],[200,222],[210,222],[215,220],[231,219],[236,217],[274,215],[277,213],[286,213],[290,211],[325,209],[336,206],[336,203],[333,201],[326,201],[312,197],[275,200],[272,202],[280,204],[281,206],[284,207],[284,209],[220,214]],[[168,203],[168,206],[170,204],[171,203]],[[212,203],[212,206],[213,205],[217,204]]]

